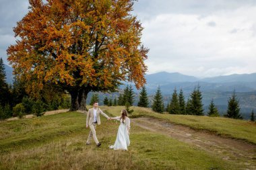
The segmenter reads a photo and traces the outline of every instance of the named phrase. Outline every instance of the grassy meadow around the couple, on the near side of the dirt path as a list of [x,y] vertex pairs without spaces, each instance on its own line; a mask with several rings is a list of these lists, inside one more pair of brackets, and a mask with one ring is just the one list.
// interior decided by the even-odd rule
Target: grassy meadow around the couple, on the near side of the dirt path
[[[117,116],[121,107],[102,109]],[[86,145],[86,115],[77,112],[0,122],[0,169],[243,169],[134,124],[129,151],[110,150],[119,122],[101,120],[96,129],[100,148]]]

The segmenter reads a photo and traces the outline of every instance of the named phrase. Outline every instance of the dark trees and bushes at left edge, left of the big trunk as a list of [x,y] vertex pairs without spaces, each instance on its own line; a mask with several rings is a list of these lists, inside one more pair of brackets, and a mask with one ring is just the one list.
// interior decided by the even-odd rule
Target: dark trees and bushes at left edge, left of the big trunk
[[13,116],[34,114],[42,116],[45,111],[70,107],[69,95],[55,87],[47,87],[40,92],[39,97],[31,97],[26,93],[25,83],[14,78],[13,85],[5,81],[6,73],[3,59],[0,58],[0,119]]

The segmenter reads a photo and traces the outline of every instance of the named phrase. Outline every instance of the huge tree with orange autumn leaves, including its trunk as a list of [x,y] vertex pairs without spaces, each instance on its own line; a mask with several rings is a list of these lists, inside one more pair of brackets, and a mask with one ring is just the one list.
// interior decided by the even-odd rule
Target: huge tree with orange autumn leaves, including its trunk
[[146,80],[141,23],[133,0],[30,0],[13,29],[8,60],[34,96],[44,85],[71,94],[71,110],[86,109],[90,91],[115,91],[121,81]]

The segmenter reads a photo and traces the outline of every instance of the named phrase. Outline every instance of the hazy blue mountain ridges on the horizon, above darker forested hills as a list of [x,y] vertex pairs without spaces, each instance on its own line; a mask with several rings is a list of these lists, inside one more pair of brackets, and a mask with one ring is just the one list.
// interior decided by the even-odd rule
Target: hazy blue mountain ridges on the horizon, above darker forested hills
[[158,85],[165,94],[172,93],[175,87],[191,92],[197,85],[200,85],[201,91],[256,91],[256,73],[199,79],[180,73],[160,72],[145,77],[148,93],[154,93]]

